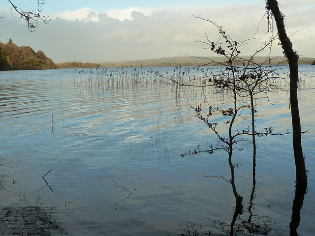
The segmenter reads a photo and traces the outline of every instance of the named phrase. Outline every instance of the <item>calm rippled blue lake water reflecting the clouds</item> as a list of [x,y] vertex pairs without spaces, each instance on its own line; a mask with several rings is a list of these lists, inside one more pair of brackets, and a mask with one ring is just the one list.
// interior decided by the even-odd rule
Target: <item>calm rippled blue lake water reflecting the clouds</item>
[[[298,232],[310,236],[315,235],[315,66],[299,68],[309,174]],[[56,220],[75,236],[227,231],[235,207],[231,185],[205,177],[230,178],[226,153],[181,154],[218,143],[191,107],[221,106],[229,98],[209,88],[160,82],[149,71],[171,75],[174,68],[0,71],[0,178],[6,189],[0,190],[0,205],[54,207]],[[291,130],[286,89],[256,101],[256,130]],[[236,127],[247,128],[246,118]],[[214,119],[220,125],[224,120]],[[222,132],[226,127],[221,125]],[[240,164],[236,186],[244,197],[236,225],[244,235],[288,235],[295,193],[291,135],[256,142],[252,201],[252,146],[243,143],[244,150],[233,154]],[[249,234],[249,225],[257,232]]]

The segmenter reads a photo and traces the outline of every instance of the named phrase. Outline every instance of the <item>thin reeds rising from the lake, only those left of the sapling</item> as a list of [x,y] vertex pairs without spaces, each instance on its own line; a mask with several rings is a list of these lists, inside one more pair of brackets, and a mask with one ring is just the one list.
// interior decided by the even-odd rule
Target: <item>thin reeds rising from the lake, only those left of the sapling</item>
[[[81,69],[76,74],[77,89],[159,89],[171,87],[176,100],[209,99],[209,95],[218,93],[214,87],[207,87],[207,81],[218,66],[201,67],[117,67]],[[217,94],[218,93],[218,94]],[[211,98],[214,96],[211,96]]]

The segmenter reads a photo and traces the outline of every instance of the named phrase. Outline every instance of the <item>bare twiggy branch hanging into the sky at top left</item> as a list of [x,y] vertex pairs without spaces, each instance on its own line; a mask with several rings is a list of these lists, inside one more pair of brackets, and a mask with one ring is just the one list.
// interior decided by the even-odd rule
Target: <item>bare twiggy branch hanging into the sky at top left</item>
[[43,22],[48,24],[49,16],[42,15],[41,11],[43,9],[43,5],[45,4],[45,0],[37,0],[37,9],[32,11],[25,11],[21,8],[18,8],[11,0],[8,0],[12,5],[11,8],[11,16],[14,17],[15,13],[20,15],[21,19],[23,19],[28,24],[28,29],[33,32],[36,30],[39,22]]

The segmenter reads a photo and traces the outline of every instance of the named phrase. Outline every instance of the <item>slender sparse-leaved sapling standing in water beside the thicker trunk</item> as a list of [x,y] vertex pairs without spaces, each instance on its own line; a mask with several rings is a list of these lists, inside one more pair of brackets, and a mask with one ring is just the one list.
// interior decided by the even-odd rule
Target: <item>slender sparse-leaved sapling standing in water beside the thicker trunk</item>
[[[199,17],[197,17],[199,18]],[[224,150],[228,154],[228,164],[230,167],[229,178],[223,176],[209,176],[209,177],[218,177],[229,182],[232,186],[233,194],[235,197],[235,212],[233,215],[233,220],[230,227],[230,235],[233,235],[234,224],[236,218],[239,214],[242,214],[243,211],[243,197],[238,193],[235,181],[235,168],[240,166],[239,163],[233,163],[232,153],[233,150],[242,151],[243,148],[239,148],[238,144],[241,142],[250,142],[253,145],[253,190],[251,201],[253,198],[253,192],[255,188],[255,156],[256,156],[256,142],[255,136],[262,135],[283,135],[286,133],[275,133],[271,126],[267,126],[264,131],[257,132],[255,130],[255,112],[256,104],[254,101],[256,99],[267,98],[268,92],[279,89],[277,85],[278,79],[283,78],[283,75],[278,71],[280,69],[277,64],[271,65],[270,53],[269,57],[266,57],[264,61],[259,61],[258,63],[254,59],[257,54],[262,53],[263,51],[270,52],[272,42],[274,42],[276,37],[271,36],[270,41],[265,42],[263,47],[253,53],[249,58],[242,58],[241,47],[245,46],[249,40],[255,40],[253,38],[245,40],[243,42],[234,41],[216,22],[209,19],[203,19],[211,24],[213,24],[218,30],[220,38],[219,40],[210,40],[206,34],[206,41],[201,42],[206,45],[206,49],[210,49],[216,55],[221,56],[223,60],[214,61],[213,59],[204,58],[206,61],[204,64],[197,67],[201,68],[204,65],[221,65],[221,69],[218,71],[212,71],[211,74],[204,73],[200,78],[188,78],[185,80],[183,78],[184,74],[188,75],[189,70],[185,72],[180,71],[179,73],[174,74],[174,76],[168,77],[170,83],[174,83],[179,86],[188,86],[188,87],[212,87],[220,92],[221,94],[227,93],[228,97],[231,98],[232,102],[231,107],[215,107],[209,106],[209,110],[204,112],[202,111],[201,104],[197,107],[192,107],[196,112],[196,117],[201,119],[209,129],[211,129],[218,138],[218,144],[210,145],[204,149],[200,148],[198,145],[195,149],[189,150],[182,154],[182,156],[198,154],[200,152],[206,152],[209,154],[214,153],[215,151]],[[279,61],[282,63],[283,61]],[[180,67],[181,69],[181,67]],[[163,79],[167,78],[166,76],[161,76]],[[250,109],[251,111],[251,125],[248,125],[245,128],[235,128],[237,124],[237,118],[242,116],[242,111]],[[214,121],[213,116],[215,114],[221,114],[223,117],[227,118],[223,121],[228,125],[228,131],[222,133],[221,129],[218,128],[219,124]],[[247,119],[243,117],[243,119]],[[220,131],[219,131],[220,130]],[[236,131],[235,131],[236,130]],[[246,138],[246,136],[252,136],[252,140]],[[250,220],[249,220],[250,222]]]

